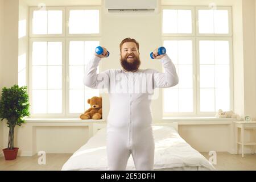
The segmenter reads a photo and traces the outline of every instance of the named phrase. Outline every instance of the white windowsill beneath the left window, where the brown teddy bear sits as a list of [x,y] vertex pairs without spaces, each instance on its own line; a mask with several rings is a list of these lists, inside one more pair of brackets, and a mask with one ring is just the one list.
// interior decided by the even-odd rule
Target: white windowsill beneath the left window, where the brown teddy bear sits
[[80,118],[26,118],[27,123],[85,123],[105,122],[105,119],[80,119]]

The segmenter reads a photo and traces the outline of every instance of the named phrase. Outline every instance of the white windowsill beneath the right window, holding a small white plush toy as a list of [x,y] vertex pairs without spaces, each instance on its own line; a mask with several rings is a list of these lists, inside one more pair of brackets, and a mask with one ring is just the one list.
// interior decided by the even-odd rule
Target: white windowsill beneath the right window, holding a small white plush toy
[[238,120],[216,117],[163,117],[162,121],[177,122],[179,125],[230,125]]

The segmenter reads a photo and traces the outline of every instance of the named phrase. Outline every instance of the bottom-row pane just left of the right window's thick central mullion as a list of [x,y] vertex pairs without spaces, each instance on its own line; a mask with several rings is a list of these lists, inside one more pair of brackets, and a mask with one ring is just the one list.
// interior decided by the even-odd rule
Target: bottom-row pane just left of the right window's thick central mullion
[[179,112],[193,112],[193,89],[179,89]]

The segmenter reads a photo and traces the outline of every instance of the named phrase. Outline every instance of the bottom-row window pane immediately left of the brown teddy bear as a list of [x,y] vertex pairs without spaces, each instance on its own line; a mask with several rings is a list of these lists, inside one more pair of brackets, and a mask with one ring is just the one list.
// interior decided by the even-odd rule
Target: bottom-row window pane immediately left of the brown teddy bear
[[69,90],[69,113],[84,113],[84,102],[87,100],[85,101],[83,89]]

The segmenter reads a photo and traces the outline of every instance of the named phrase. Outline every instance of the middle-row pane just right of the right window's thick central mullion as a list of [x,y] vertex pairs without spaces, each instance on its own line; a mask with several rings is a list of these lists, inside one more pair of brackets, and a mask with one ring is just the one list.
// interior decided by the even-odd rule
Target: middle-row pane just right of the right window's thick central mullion
[[214,65],[200,65],[200,88],[214,88]]

